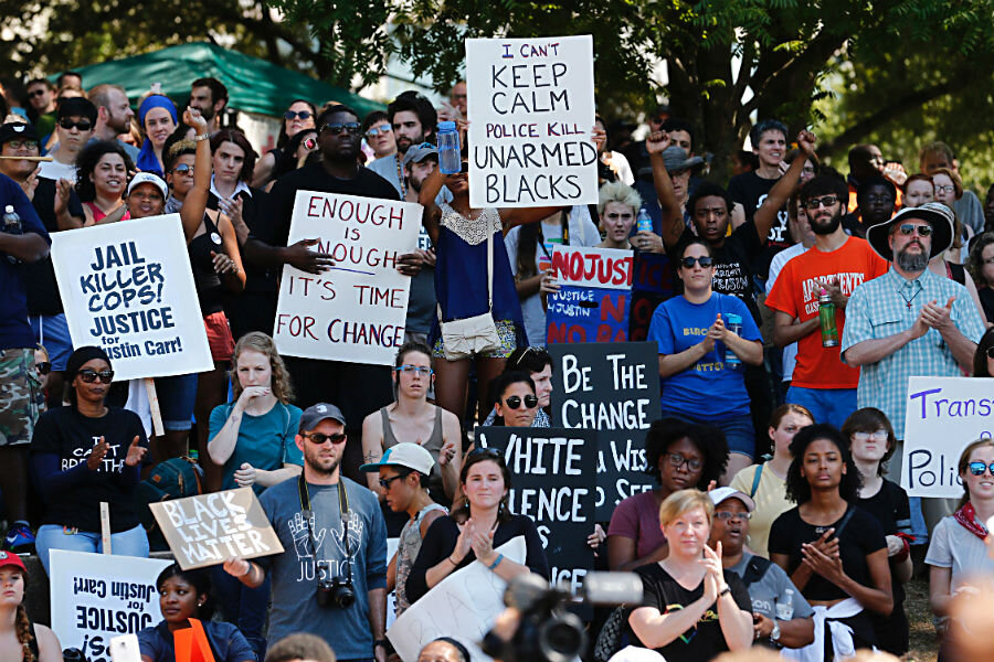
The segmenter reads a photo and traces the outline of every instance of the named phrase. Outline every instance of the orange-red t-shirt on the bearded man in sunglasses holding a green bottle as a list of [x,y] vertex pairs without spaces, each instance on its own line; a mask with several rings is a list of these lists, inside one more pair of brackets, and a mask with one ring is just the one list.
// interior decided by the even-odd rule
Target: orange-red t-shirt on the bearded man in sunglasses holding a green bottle
[[[887,273],[890,265],[877,255],[870,245],[858,237],[849,237],[832,253],[823,253],[817,246],[794,257],[780,271],[773,290],[766,297],[766,306],[806,322],[818,317],[818,280],[838,284],[845,296],[856,286]],[[835,324],[842,340],[845,311],[835,311]],[[794,367],[794,386],[804,388],[856,388],[859,369],[839,361],[838,345],[822,346],[817,329],[797,341],[797,365]]]

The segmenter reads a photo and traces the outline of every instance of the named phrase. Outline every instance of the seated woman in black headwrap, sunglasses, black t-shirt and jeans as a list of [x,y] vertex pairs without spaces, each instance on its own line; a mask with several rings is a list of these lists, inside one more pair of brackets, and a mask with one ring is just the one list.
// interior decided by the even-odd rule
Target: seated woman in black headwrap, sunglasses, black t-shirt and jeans
[[31,439],[31,465],[45,498],[39,558],[47,573],[50,549],[101,552],[102,501],[110,505],[114,554],[148,556],[135,494],[148,447],[141,419],[104,404],[114,371],[101,348],[73,352],[65,378],[70,406],[42,414]]

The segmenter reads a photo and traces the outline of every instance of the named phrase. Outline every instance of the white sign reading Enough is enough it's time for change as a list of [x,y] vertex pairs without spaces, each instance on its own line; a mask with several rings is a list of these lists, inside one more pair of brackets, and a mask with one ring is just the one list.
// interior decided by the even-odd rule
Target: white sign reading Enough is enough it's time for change
[[283,267],[273,339],[281,354],[392,365],[404,343],[411,278],[396,259],[417,247],[420,204],[297,191],[287,245],[317,239],[335,265]]

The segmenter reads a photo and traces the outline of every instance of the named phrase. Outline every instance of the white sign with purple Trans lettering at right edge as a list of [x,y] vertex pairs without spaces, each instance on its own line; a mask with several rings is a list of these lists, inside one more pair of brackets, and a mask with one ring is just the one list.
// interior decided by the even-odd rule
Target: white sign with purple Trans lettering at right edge
[[992,394],[994,378],[908,381],[901,487],[909,496],[963,495],[960,455],[973,441],[994,435]]

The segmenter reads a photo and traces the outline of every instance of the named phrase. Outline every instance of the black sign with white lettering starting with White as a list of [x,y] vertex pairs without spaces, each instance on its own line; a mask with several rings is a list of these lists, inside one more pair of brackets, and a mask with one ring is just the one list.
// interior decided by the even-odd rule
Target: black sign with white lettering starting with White
[[552,585],[565,581],[575,590],[593,569],[593,533],[596,433],[560,428],[482,427],[480,447],[504,452],[511,472],[508,495],[515,514],[535,521],[546,557],[552,567]]

